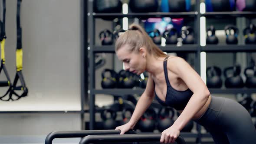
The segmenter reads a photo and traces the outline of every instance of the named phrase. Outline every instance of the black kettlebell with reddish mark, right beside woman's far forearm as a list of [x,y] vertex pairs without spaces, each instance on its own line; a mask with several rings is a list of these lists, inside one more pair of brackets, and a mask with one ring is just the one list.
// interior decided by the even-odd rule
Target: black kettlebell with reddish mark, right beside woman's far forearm
[[156,123],[156,111],[154,108],[149,107],[145,113],[141,116],[138,122],[138,128],[142,132],[153,132]]

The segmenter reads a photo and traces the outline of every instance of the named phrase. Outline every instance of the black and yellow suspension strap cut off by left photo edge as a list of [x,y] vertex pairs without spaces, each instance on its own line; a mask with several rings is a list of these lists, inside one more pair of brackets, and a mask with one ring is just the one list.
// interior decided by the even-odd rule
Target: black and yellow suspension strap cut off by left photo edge
[[0,73],[4,72],[4,74],[6,75],[7,81],[0,81],[0,87],[9,87],[7,92],[0,96],[0,99],[2,101],[9,101],[9,99],[4,98],[6,97],[6,95],[10,92],[10,89],[12,88],[11,82],[10,82],[10,77],[9,74],[7,72],[7,69],[5,67],[5,54],[4,54],[4,46],[5,46],[5,39],[6,39],[6,35],[5,35],[5,12],[6,12],[6,0],[3,0],[3,21],[0,20],[0,44],[1,44],[1,66],[0,66]]

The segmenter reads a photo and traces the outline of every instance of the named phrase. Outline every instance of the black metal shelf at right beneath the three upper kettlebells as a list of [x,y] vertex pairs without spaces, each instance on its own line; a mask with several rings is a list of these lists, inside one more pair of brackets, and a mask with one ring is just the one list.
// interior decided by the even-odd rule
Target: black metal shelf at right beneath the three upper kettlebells
[[203,52],[256,52],[256,45],[207,45],[201,46]]

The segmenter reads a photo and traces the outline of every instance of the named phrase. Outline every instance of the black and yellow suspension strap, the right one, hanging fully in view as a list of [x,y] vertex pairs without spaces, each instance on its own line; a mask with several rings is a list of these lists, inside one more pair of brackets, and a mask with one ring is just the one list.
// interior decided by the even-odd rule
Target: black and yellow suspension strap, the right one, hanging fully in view
[[[10,92],[10,99],[11,100],[18,100],[22,97],[25,97],[28,93],[28,89],[26,88],[25,81],[22,75],[22,30],[20,27],[20,4],[21,0],[17,0],[17,47],[16,47],[16,75],[13,81],[13,87]],[[20,86],[17,86],[17,82],[20,79]],[[19,95],[16,91],[22,91]],[[13,94],[16,98],[13,98]]]

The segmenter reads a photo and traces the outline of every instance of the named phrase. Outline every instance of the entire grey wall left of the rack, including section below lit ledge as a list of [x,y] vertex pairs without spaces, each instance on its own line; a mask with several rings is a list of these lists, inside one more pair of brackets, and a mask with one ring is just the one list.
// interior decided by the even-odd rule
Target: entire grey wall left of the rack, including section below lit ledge
[[[16,0],[6,2],[6,66],[13,82],[16,73]],[[23,76],[29,93],[18,101],[0,101],[0,143],[7,143],[8,139],[8,143],[12,143],[13,138],[29,143],[35,142],[30,141],[33,135],[45,138],[51,131],[80,130],[79,112],[1,111],[81,110],[81,7],[81,0],[22,0]],[[0,79],[4,79],[3,74]],[[0,94],[6,90],[0,88]],[[23,137],[23,141],[21,136],[31,139]],[[44,138],[37,142],[43,144]]]

